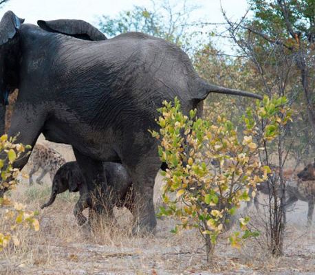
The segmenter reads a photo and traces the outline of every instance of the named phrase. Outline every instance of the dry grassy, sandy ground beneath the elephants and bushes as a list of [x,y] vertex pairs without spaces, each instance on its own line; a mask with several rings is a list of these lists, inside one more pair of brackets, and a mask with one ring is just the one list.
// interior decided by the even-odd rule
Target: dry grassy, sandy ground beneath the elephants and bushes
[[[67,160],[74,158],[69,147],[54,144],[54,148]],[[160,184],[158,176],[156,205]],[[29,187],[24,179],[12,197],[31,210],[40,209],[50,197],[50,187],[47,176],[43,186]],[[157,234],[146,238],[129,235],[132,217],[124,209],[116,210],[120,228],[104,225],[94,232],[79,228],[72,214],[77,199],[78,194],[65,192],[58,195],[51,207],[41,210],[41,230],[21,230],[23,241],[19,247],[0,254],[0,274],[315,274],[315,226],[313,223],[307,232],[307,204],[301,201],[288,213],[283,257],[268,256],[262,247],[265,240],[262,234],[257,240],[248,241],[240,251],[221,241],[213,262],[207,265],[197,232],[174,235],[170,232],[173,225],[170,219],[159,219]],[[253,207],[250,212],[255,217],[252,223],[259,225]]]

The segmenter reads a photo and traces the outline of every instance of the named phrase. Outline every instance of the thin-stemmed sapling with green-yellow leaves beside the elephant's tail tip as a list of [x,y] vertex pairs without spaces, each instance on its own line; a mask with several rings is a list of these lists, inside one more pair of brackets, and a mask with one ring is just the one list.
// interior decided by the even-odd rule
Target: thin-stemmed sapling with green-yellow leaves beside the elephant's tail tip
[[[287,107],[285,97],[264,97],[257,101],[254,108],[249,107],[243,119],[246,122],[246,132],[251,133],[259,147],[259,157],[266,166],[278,168],[274,176],[267,181],[269,189],[268,221],[266,235],[268,248],[275,256],[283,254],[283,235],[285,232],[285,179],[283,177],[283,137],[287,131],[288,122],[292,121],[292,111]],[[272,162],[272,154],[276,152],[278,159]]]

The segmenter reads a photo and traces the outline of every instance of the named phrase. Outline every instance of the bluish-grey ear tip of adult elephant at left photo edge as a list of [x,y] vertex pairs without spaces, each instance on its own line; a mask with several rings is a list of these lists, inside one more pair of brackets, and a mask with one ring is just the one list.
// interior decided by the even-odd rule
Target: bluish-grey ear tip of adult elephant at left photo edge
[[0,21],[0,45],[12,39],[23,22],[24,19],[17,17],[10,10],[6,12]]

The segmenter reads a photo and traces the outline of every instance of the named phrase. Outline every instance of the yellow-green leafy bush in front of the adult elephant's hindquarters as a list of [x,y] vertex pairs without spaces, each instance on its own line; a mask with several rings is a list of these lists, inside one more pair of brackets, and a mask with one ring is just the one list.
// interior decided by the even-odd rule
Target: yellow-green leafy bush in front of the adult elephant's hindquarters
[[[279,99],[282,100],[282,99]],[[256,109],[274,113],[268,99],[257,101]],[[215,122],[196,118],[196,110],[189,117],[180,111],[180,101],[163,102],[158,109],[160,133],[151,131],[160,140],[159,155],[168,169],[163,173],[165,207],[160,214],[177,217],[173,232],[197,228],[204,237],[207,259],[213,253],[217,239],[229,227],[230,218],[242,201],[250,201],[256,185],[268,178],[270,168],[261,166],[259,146],[254,142],[256,127],[250,110],[243,117],[245,135],[239,137],[237,127],[218,115]],[[275,114],[273,114],[275,115]],[[281,119],[281,118],[280,118]],[[277,135],[279,118],[268,120],[265,138]],[[175,194],[174,199],[169,196]],[[240,248],[245,239],[256,236],[247,228],[249,217],[239,219],[240,231],[232,232],[230,243]]]

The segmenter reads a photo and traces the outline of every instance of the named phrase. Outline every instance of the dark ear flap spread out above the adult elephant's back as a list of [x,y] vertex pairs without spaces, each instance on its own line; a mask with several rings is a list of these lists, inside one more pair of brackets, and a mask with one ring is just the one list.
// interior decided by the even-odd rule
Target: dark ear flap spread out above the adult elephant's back
[[83,20],[59,19],[52,21],[37,21],[37,25],[47,32],[58,32],[77,39],[100,41],[106,40],[105,34]]

